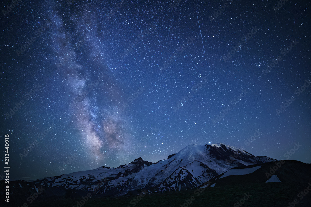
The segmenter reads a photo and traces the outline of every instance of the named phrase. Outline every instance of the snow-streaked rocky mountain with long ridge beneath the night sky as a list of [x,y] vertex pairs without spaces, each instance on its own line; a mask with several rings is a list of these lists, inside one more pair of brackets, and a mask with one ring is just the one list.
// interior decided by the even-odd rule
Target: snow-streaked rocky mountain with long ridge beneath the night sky
[[231,168],[275,161],[278,160],[254,156],[222,143],[193,144],[156,163],[137,158],[117,168],[102,166],[33,181],[10,181],[11,198],[22,204],[40,190],[42,194],[38,199],[75,198],[85,196],[86,192],[92,192],[93,197],[116,197],[142,190],[145,193],[189,190]]

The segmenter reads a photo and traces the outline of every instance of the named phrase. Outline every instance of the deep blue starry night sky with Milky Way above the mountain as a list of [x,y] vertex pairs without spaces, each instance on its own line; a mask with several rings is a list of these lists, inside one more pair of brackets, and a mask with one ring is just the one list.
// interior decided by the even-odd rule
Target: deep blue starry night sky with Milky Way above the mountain
[[7,2],[10,179],[157,162],[189,144],[311,162],[309,1]]

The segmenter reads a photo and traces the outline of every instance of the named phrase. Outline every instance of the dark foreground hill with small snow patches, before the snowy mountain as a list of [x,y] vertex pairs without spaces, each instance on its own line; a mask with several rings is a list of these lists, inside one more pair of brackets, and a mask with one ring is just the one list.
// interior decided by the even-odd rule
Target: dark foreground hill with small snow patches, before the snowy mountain
[[[254,168],[257,169],[249,170]],[[203,184],[205,188],[146,195],[142,194],[144,191],[139,191],[118,198],[91,197],[86,202],[83,202],[83,198],[64,199],[55,202],[39,202],[32,206],[311,206],[311,164],[287,160],[236,167],[230,170]],[[253,172],[236,175],[243,174],[240,170],[244,173]],[[272,176],[277,176],[278,179],[270,179]],[[277,182],[267,182],[269,180]],[[79,203],[83,205],[80,206]]]

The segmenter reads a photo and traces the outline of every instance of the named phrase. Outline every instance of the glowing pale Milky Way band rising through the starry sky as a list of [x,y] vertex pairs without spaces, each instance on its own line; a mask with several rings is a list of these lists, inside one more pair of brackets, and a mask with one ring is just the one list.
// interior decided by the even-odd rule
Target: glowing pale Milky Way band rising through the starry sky
[[[70,88],[69,93],[72,94],[70,109],[73,120],[81,134],[81,141],[87,146],[90,159],[98,163],[105,160],[104,151],[106,154],[114,153],[117,155],[116,158],[124,153],[127,154],[124,146],[125,144],[129,145],[130,135],[124,129],[126,118],[115,112],[117,101],[122,101],[122,98],[116,84],[109,79],[109,70],[105,65],[108,57],[100,52],[101,49],[98,47],[101,44],[100,40],[96,36],[93,37],[92,31],[88,30],[88,28],[97,26],[97,23],[92,21],[94,16],[89,16],[90,13],[91,11],[85,11],[78,19],[76,19],[77,17],[74,19],[77,24],[74,30],[81,32],[75,35],[85,37],[83,44],[80,43],[80,47],[85,44],[86,51],[89,53],[86,58],[92,65],[90,69],[83,69],[83,66],[77,61],[77,53],[81,52],[81,48],[72,47],[77,44],[70,41],[70,35],[62,32],[63,29],[60,31],[58,29],[56,34],[60,39],[66,40],[65,46],[62,47],[64,43],[61,41],[55,44],[58,44],[56,47],[63,48],[59,50],[59,54],[65,60],[65,64],[61,65],[59,70],[64,74],[66,87]],[[84,26],[87,28],[83,28]],[[64,26],[60,23],[59,28],[62,27]],[[92,40],[86,37],[92,37]],[[100,71],[101,74],[92,76],[90,70]],[[82,73],[84,75],[81,75]],[[97,90],[96,95],[104,98],[96,99],[92,93],[95,89]],[[112,111],[112,114],[105,111],[107,108],[111,108],[110,113]],[[119,159],[124,161],[123,158],[124,156]]]

